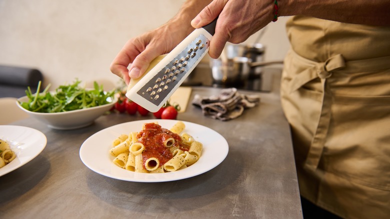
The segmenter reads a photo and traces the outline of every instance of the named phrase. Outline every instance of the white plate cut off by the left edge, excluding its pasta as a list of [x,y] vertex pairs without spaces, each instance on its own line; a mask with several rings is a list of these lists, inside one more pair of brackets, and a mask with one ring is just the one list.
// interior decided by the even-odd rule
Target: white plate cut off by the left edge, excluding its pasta
[[0,176],[26,164],[46,146],[46,136],[30,127],[0,125],[0,138],[6,140],[16,153],[15,159],[0,168]]

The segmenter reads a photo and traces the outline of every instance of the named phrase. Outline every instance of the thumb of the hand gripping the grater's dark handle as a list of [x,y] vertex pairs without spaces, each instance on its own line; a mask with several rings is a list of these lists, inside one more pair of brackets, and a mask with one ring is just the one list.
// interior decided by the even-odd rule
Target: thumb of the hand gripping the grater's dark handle
[[191,20],[191,25],[194,28],[200,28],[213,21],[223,7],[227,3],[227,0],[213,0],[207,6],[205,6],[196,16]]

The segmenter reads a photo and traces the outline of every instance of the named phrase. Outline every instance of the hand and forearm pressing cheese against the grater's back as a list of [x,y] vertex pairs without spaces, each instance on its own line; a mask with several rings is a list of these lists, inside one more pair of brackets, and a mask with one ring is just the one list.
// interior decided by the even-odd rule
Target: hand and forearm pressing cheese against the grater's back
[[111,62],[112,73],[123,78],[140,77],[157,56],[170,52],[194,28],[190,21],[210,0],[187,0],[180,11],[162,26],[129,39]]

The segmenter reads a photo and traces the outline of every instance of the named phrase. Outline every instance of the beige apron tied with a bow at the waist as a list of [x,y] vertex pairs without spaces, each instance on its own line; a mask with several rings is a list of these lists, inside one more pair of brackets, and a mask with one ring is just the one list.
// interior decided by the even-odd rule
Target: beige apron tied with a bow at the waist
[[390,218],[390,27],[295,16],[281,80],[303,197]]

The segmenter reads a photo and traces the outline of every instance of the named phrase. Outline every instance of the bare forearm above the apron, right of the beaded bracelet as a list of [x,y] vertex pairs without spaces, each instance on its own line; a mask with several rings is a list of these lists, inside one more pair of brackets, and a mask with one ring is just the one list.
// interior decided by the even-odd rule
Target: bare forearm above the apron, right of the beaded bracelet
[[346,23],[390,25],[389,0],[278,0],[279,15],[306,15]]

